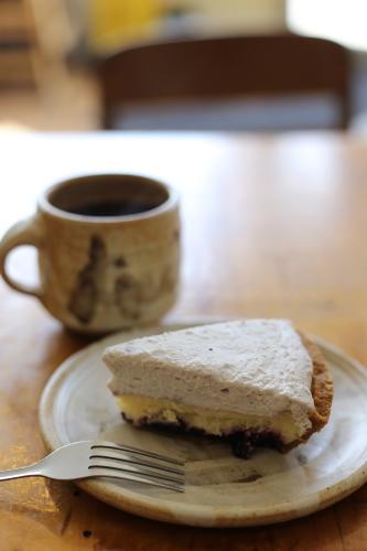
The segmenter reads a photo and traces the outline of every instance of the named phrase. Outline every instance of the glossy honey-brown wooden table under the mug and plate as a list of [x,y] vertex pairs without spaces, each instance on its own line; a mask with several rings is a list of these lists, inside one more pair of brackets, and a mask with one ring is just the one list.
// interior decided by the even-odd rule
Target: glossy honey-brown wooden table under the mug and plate
[[[367,363],[367,143],[332,134],[0,136],[1,233],[72,174],[149,174],[182,194],[182,294],[169,316],[294,320]],[[30,272],[23,260],[18,269]],[[17,268],[17,266],[15,266]],[[44,453],[41,390],[85,346],[0,283],[0,468]],[[208,530],[115,510],[72,484],[0,485],[1,550],[364,550],[367,489],[279,526]]]

